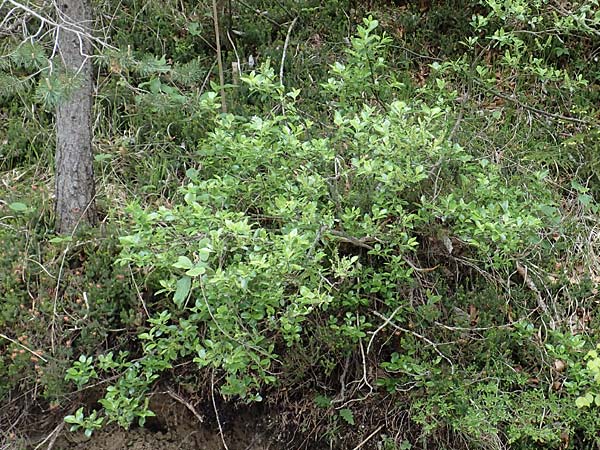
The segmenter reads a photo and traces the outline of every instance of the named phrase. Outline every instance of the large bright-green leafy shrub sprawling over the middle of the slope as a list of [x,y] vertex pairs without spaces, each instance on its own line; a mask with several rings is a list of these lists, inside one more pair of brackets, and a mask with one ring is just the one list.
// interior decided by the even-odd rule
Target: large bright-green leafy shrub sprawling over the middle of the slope
[[[268,65],[242,78],[261,116],[221,114],[217,94],[204,95],[212,131],[179,195],[168,208],[131,205],[124,224],[120,263],[159,289],[141,354],[84,360],[99,376],[121,373],[101,400],[109,420],[143,422],[148,390],[183,361],[223,375],[223,395],[261,400],[317,328],[335,360],[363,345],[375,312],[405,320],[428,239],[485,270],[513,270],[555,219],[543,173],[511,183],[449,139],[452,102],[403,98],[376,27],[364,21],[321,84],[320,121]],[[320,355],[305,360],[319,367]],[[75,428],[97,427],[95,415],[78,417]]]

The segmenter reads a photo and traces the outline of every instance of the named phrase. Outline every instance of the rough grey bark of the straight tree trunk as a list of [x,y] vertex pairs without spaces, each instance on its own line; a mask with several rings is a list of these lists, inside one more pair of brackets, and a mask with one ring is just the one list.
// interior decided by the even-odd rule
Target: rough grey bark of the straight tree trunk
[[[89,31],[90,0],[59,0],[66,20]],[[78,73],[77,88],[56,108],[56,228],[71,233],[96,225],[92,154],[92,44],[60,29],[58,48],[69,74]]]

